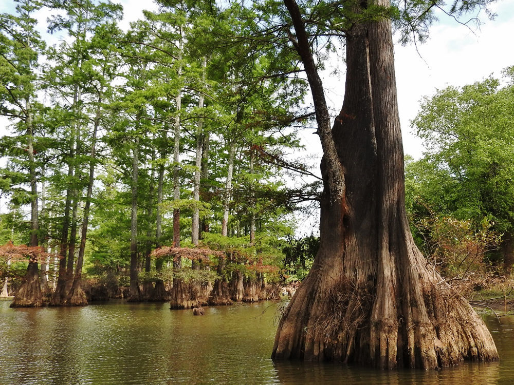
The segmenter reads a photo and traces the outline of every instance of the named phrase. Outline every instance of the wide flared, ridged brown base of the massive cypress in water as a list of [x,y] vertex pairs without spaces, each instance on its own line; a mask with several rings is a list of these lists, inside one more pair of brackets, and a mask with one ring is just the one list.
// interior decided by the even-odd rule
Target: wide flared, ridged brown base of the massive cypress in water
[[[350,246],[343,256],[355,251]],[[355,265],[323,261],[321,248],[316,267],[280,322],[273,359],[381,369],[437,369],[465,359],[498,359],[489,331],[469,303],[428,269],[415,246],[404,251],[390,270],[359,274],[364,270]]]

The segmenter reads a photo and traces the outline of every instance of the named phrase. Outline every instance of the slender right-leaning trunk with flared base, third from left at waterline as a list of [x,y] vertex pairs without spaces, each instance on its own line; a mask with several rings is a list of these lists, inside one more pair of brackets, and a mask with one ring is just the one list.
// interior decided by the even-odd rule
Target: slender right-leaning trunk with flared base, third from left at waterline
[[82,231],[80,236],[79,256],[77,257],[77,264],[75,266],[75,277],[71,290],[69,291],[68,297],[66,298],[66,304],[71,306],[85,306],[87,305],[86,294],[82,290],[82,265],[84,262],[84,252],[86,248],[87,238],[87,225],[89,222],[89,208],[91,206],[91,196],[93,196],[93,184],[95,182],[95,160],[96,160],[96,140],[98,127],[100,125],[100,103],[102,102],[101,95],[98,98],[98,107],[95,117],[95,125],[93,128],[93,137],[91,138],[91,152],[89,154],[89,178],[87,181],[87,194],[86,203],[84,205],[84,220],[82,222]]

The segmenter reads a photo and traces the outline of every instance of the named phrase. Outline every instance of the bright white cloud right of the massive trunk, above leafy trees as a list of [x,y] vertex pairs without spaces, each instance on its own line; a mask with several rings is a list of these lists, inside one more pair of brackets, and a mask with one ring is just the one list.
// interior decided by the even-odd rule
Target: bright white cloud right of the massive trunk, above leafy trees
[[[514,13],[512,1],[495,7],[497,20],[486,20],[480,30],[471,32],[457,23],[434,25],[430,40],[414,46],[395,48],[398,105],[406,153],[421,156],[423,145],[411,133],[410,120],[419,108],[424,95],[435,89],[464,86],[489,76],[499,77],[501,70],[514,65],[514,51],[506,41],[512,34]],[[421,55],[421,57],[420,57]]]

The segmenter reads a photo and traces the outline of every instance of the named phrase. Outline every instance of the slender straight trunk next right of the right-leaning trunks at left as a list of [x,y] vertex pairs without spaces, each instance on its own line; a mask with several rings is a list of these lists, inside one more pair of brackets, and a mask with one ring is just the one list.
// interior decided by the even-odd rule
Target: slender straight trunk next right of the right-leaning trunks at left
[[[138,117],[139,121],[139,117]],[[134,140],[132,148],[132,209],[130,226],[130,288],[127,301],[139,302],[141,291],[139,290],[139,270],[137,265],[137,194],[139,172],[139,136]]]

